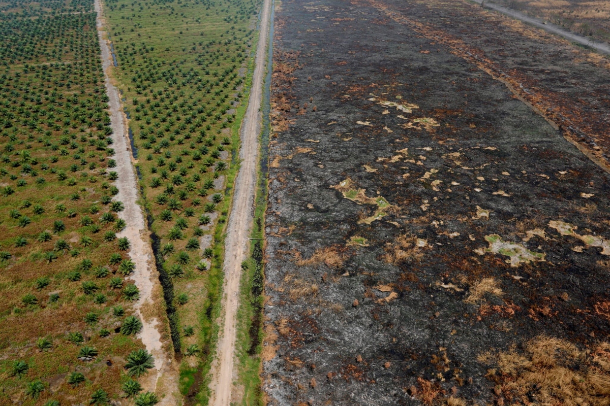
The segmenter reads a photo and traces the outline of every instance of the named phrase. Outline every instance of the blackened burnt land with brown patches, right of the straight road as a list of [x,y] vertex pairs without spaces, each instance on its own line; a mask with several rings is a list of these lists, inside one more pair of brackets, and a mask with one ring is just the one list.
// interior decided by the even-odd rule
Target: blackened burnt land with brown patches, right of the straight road
[[606,62],[439,4],[276,10],[272,405],[610,395]]

